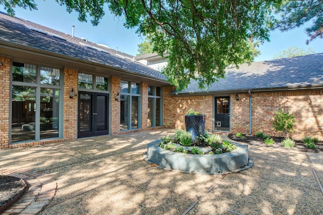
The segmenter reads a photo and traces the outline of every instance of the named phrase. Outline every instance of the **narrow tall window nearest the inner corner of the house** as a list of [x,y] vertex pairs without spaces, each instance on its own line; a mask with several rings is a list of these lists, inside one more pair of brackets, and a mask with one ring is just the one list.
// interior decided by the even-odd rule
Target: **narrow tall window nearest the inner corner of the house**
[[148,86],[148,127],[163,125],[162,94],[160,87]]

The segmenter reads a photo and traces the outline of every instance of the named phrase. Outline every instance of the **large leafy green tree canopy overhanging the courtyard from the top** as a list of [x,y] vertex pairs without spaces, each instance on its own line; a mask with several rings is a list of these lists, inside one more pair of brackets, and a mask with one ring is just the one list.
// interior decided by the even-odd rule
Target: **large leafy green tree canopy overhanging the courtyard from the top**
[[[13,1],[13,2],[12,2]],[[207,1],[207,0],[56,0],[68,12],[79,13],[80,21],[91,17],[97,25],[107,5],[112,14],[125,17],[124,25],[137,33],[149,35],[153,51],[169,53],[163,73],[182,90],[191,79],[207,87],[223,78],[227,62],[238,67],[253,61],[249,39],[269,41],[274,23],[274,7],[283,0]],[[8,12],[13,6],[34,9],[32,0],[0,0]]]

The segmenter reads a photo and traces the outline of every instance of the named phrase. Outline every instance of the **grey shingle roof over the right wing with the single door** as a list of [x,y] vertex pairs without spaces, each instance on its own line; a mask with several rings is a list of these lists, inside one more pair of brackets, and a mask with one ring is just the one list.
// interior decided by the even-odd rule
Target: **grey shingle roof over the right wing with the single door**
[[[323,53],[271,61],[242,64],[239,69],[226,69],[225,79],[211,84],[208,92],[271,90],[273,88],[312,87],[323,88]],[[192,81],[180,93],[202,93],[198,82]]]

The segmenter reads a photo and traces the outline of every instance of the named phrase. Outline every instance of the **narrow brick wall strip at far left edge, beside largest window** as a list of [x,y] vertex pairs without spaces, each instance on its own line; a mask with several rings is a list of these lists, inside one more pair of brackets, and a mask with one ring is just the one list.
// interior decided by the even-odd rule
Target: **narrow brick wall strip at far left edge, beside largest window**
[[1,57],[0,62],[0,149],[9,148],[9,89],[10,59]]

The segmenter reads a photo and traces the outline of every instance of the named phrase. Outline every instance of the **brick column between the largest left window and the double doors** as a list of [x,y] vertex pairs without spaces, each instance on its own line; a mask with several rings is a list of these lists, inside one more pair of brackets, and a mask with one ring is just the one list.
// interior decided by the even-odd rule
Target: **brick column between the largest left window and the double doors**
[[[64,69],[64,108],[63,108],[63,138],[77,138],[77,82],[78,71]],[[70,98],[70,91],[74,89],[75,96]]]

